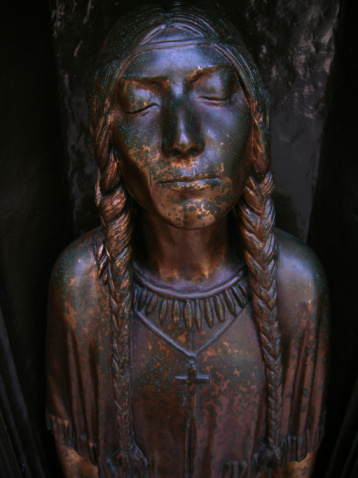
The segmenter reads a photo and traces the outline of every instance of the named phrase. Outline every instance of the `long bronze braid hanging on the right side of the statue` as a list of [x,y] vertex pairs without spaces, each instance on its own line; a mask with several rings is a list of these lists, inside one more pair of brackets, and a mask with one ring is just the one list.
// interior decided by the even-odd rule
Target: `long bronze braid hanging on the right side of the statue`
[[[254,121],[254,136],[259,134]],[[254,145],[259,141],[254,141]],[[254,151],[255,154],[255,151]],[[280,424],[282,406],[281,335],[277,317],[275,210],[271,194],[271,170],[260,179],[249,176],[238,204],[240,232],[249,269],[252,302],[265,364],[267,387],[267,446],[260,457],[263,465],[281,463]]]

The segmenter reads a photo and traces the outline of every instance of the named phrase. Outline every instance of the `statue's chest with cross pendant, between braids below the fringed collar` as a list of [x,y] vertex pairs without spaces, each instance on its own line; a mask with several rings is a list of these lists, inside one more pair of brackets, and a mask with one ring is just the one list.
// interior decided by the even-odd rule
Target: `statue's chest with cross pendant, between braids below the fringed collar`
[[250,307],[206,335],[137,313],[131,355],[135,434],[153,476],[217,477],[226,461],[252,456],[265,380]]

